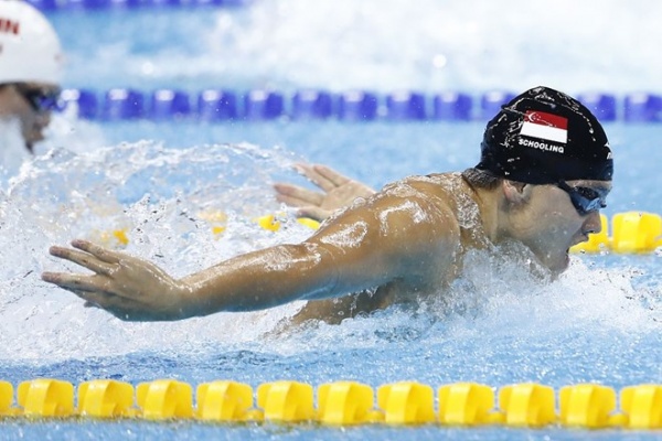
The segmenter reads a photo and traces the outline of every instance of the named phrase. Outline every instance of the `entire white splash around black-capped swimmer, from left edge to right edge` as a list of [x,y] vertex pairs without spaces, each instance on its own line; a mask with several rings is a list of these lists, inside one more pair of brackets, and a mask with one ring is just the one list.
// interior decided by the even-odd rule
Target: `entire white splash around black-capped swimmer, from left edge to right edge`
[[[76,270],[50,258],[50,245],[74,237],[108,240],[102,233],[115,229],[126,230],[127,251],[177,277],[241,252],[300,241],[310,230],[275,202],[270,189],[274,175],[296,178],[297,160],[250,144],[168,149],[142,141],[85,154],[52,150],[25,163],[0,194],[0,229],[8,233],[0,237],[0,359],[185,353],[218,343],[299,354],[425,342],[456,354],[466,345],[484,351],[503,342],[645,337],[658,330],[659,288],[637,284],[639,271],[592,267],[574,257],[569,270],[551,282],[542,269],[531,271],[535,265],[523,250],[515,252],[519,259],[513,252],[470,254],[452,289],[440,300],[421,299],[418,308],[392,306],[338,326],[318,323],[279,334],[277,325],[301,302],[173,323],[125,323],[40,280],[45,269]],[[213,233],[214,220],[201,215],[217,212],[224,214],[221,236]],[[254,222],[268,212],[282,212],[277,233]],[[448,348],[449,342],[455,346]]]

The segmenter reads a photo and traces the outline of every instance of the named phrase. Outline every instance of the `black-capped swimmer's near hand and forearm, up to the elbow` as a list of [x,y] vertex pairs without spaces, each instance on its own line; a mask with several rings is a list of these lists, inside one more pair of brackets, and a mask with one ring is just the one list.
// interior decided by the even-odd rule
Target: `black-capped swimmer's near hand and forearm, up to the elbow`
[[[333,283],[331,262],[314,246],[281,245],[249,252],[179,280],[150,261],[87,240],[73,240],[72,247],[54,246],[50,252],[94,273],[44,272],[42,279],[72,291],[86,305],[129,321],[265,309],[306,294],[316,298],[320,292],[312,283]],[[322,271],[327,265],[329,271]]]

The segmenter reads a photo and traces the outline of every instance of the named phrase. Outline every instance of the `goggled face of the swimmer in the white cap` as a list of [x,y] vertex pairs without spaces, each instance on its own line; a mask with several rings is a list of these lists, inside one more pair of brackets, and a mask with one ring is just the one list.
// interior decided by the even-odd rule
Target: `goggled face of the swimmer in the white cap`
[[0,118],[18,118],[25,147],[32,151],[35,142],[44,139],[43,131],[51,122],[51,114],[58,87],[39,83],[15,83],[0,86]]

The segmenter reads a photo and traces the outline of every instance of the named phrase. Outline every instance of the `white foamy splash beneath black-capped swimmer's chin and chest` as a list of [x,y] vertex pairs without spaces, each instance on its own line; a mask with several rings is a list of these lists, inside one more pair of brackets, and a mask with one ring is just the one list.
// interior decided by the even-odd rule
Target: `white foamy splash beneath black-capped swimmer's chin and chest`
[[641,277],[636,269],[592,268],[574,257],[569,269],[553,281],[544,269],[531,270],[535,262],[524,249],[520,258],[500,251],[470,252],[451,289],[439,298],[421,299],[417,308],[395,305],[340,325],[309,323],[285,340],[278,335],[269,351],[392,351],[409,342],[413,347],[450,346],[467,358],[468,347],[493,353],[506,342],[562,351],[559,342],[566,338],[598,338],[604,345],[659,332],[659,294],[634,287]]

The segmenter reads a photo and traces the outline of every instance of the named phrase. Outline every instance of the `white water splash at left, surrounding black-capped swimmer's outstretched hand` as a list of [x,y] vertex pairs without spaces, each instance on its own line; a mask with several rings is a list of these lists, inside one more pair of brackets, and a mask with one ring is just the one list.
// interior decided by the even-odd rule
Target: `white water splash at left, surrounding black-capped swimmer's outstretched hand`
[[[194,335],[259,329],[259,313],[228,332],[223,320],[173,324],[127,324],[107,313],[84,310],[74,295],[40,280],[44,269],[76,271],[47,256],[47,247],[75,237],[107,240],[99,233],[126,230],[127,251],[182,276],[238,252],[286,240],[310,230],[284,211],[282,233],[260,228],[254,218],[282,211],[275,202],[271,175],[290,173],[293,155],[250,144],[164,149],[145,141],[87,154],[52,150],[26,162],[2,193],[0,209],[0,358],[83,356],[168,347]],[[223,212],[218,236],[200,214]],[[119,245],[110,243],[108,245]],[[224,325],[212,326],[221,319]],[[267,322],[271,319],[267,319]],[[163,329],[171,333],[163,333]],[[201,330],[205,330],[202,332]],[[238,337],[241,340],[241,337]]]

